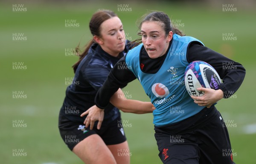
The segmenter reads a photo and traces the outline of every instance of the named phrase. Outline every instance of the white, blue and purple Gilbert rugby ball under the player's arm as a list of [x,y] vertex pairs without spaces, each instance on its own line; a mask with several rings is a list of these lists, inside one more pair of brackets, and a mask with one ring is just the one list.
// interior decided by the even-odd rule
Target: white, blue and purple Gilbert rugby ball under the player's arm
[[197,88],[212,88],[218,90],[221,78],[217,71],[207,62],[194,61],[185,70],[185,86],[190,96],[204,96]]

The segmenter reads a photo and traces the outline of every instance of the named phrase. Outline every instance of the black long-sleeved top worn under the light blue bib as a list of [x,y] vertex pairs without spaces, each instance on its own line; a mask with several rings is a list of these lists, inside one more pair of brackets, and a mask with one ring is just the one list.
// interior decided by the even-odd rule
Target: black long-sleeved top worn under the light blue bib
[[[171,44],[172,41],[170,42],[170,45]],[[142,71],[149,74],[157,72],[161,68],[168,51],[169,49],[162,57],[151,59],[148,57],[148,54],[143,47],[140,53],[140,63],[143,63],[144,65]],[[189,63],[201,60],[209,63],[213,68],[215,68],[223,81],[219,86],[219,89],[223,91],[224,98],[232,96],[244,80],[245,69],[240,63],[234,62],[222,54],[200,45],[199,42],[190,43],[187,49],[186,58]],[[110,97],[118,90],[118,88],[123,88],[128,84],[128,82],[136,79],[136,76],[134,76],[130,70],[120,70],[118,65],[125,65],[125,57],[122,57],[111,69],[105,83],[98,90],[95,97],[95,103],[99,108],[104,109],[108,105]]]

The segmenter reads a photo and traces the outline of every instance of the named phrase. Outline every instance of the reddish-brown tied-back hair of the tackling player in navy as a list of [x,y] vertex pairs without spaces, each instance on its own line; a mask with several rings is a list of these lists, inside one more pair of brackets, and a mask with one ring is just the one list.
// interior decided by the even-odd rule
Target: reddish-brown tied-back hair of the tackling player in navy
[[[97,11],[96,13],[93,14],[91,20],[90,20],[90,23],[89,23],[89,28],[90,28],[90,32],[93,36],[98,36],[98,37],[101,37],[101,29],[100,29],[100,25],[105,21],[105,20],[108,20],[112,17],[117,17],[117,15],[113,12],[113,11],[110,11],[110,10],[99,10]],[[82,59],[84,59],[84,57],[87,55],[91,45],[93,45],[95,41],[93,39],[91,39],[87,45],[85,45],[85,50],[83,51],[82,54],[79,53],[80,51],[80,48],[79,48],[79,45],[76,47],[76,53],[79,54],[79,60],[78,62],[76,62],[72,67],[74,69],[74,72],[76,72],[76,69],[79,65],[79,63],[81,62]]]

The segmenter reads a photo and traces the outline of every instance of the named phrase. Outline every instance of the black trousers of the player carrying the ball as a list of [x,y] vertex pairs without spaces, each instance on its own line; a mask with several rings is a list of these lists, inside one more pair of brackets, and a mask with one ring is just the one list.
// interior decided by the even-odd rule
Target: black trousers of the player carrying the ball
[[163,164],[234,164],[227,127],[215,107],[186,130],[172,133],[173,128],[155,127]]

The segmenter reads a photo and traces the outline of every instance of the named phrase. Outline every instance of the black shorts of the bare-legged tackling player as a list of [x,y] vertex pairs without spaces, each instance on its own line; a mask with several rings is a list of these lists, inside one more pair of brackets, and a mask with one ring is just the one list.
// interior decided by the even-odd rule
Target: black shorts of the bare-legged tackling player
[[108,124],[102,123],[100,130],[96,128],[90,130],[90,127],[85,128],[83,122],[72,122],[60,113],[58,127],[61,138],[71,151],[76,144],[93,134],[98,134],[106,145],[120,144],[126,141],[120,116]]

